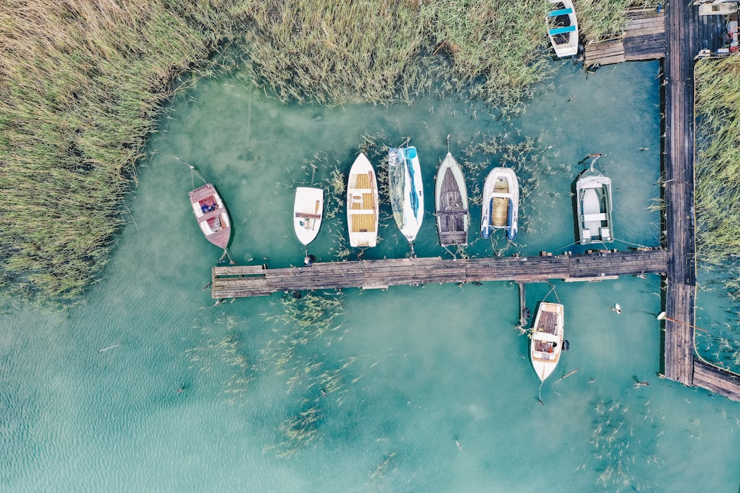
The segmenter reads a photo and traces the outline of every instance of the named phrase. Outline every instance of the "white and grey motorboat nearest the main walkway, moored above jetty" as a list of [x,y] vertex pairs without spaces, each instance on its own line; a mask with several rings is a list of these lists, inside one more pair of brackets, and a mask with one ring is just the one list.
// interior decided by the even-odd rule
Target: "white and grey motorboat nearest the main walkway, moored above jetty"
[[576,181],[576,220],[581,245],[613,241],[611,180],[593,168],[601,154],[591,154],[591,168]]

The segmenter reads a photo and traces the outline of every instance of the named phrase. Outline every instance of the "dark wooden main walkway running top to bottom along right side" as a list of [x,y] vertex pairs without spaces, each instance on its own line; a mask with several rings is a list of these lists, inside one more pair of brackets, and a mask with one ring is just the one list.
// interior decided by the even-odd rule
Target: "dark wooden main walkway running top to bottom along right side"
[[[740,401],[740,378],[696,356],[694,235],[694,58],[721,46],[721,16],[699,16],[687,2],[670,4],[664,63],[665,230],[668,249],[665,377]],[[670,320],[669,320],[670,319]]]

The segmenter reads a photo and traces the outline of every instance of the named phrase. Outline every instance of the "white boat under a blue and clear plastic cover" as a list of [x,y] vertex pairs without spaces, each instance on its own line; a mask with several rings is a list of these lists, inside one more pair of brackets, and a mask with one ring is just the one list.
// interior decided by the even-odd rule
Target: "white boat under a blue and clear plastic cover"
[[424,219],[424,191],[416,147],[388,149],[388,185],[393,217],[401,234],[412,243]]

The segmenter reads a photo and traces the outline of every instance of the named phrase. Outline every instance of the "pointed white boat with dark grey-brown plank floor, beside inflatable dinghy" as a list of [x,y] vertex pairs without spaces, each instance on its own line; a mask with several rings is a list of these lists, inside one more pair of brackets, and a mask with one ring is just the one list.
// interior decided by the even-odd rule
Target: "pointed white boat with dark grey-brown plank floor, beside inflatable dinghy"
[[442,246],[467,245],[470,223],[468,188],[460,165],[449,152],[437,171],[434,210],[437,212],[437,231]]

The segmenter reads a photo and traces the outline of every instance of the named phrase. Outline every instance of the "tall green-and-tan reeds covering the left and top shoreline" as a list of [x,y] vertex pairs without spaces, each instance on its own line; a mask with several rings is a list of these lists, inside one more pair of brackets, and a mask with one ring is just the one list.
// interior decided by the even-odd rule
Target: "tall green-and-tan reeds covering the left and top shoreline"
[[[629,5],[582,0],[582,33],[620,33]],[[124,224],[135,163],[174,81],[208,72],[219,43],[237,47],[258,84],[285,101],[411,103],[434,87],[516,116],[549,76],[547,8],[541,0],[0,1],[0,293],[42,305],[81,301]]]

